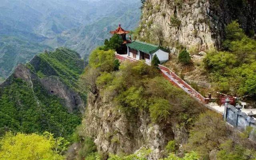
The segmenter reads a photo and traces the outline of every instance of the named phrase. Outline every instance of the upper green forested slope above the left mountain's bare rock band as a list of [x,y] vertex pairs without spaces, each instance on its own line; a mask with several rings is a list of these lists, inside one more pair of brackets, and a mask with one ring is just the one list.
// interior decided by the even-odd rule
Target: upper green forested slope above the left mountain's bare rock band
[[[27,66],[36,72],[38,77],[58,76],[65,84],[76,89],[76,80],[83,72],[84,62],[80,55],[68,48],[57,48],[35,56]],[[37,62],[40,62],[40,65]],[[46,67],[47,66],[47,67]]]

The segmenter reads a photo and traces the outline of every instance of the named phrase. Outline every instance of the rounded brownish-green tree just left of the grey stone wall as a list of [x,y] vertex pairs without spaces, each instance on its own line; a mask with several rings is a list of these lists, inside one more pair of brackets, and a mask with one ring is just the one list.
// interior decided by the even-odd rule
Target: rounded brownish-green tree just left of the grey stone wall
[[200,156],[207,156],[211,150],[219,148],[220,144],[231,135],[231,130],[222,120],[222,116],[213,111],[200,114],[190,131],[188,149],[194,150]]

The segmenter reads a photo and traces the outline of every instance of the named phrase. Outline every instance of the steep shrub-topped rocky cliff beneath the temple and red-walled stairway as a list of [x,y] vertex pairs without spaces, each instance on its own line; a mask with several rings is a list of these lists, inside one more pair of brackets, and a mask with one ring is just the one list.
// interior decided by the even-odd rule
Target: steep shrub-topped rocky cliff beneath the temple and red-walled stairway
[[[110,55],[102,62],[111,62]],[[93,60],[98,64],[98,58]],[[94,86],[95,74],[88,76]],[[148,159],[158,160],[166,156],[169,141],[180,145],[187,142],[189,124],[204,110],[200,103],[164,80],[156,68],[143,62],[124,62],[120,70],[98,76],[97,92],[88,96],[85,118],[78,128],[81,139],[70,149],[80,150],[79,160],[86,158],[85,153],[80,155],[86,150],[86,137],[92,137],[105,159],[109,153],[127,155],[147,148],[151,150]]]

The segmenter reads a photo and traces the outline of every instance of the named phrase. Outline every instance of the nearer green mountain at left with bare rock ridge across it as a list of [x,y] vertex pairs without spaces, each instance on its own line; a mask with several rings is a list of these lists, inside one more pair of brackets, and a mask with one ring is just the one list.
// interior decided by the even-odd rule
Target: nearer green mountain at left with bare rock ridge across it
[[84,110],[76,89],[83,68],[79,54],[66,48],[19,64],[0,86],[0,134],[48,131],[70,138]]

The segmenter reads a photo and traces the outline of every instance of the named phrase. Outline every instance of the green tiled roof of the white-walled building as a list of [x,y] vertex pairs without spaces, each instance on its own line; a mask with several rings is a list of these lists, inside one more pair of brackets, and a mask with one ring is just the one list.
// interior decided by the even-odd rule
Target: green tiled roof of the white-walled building
[[140,42],[137,40],[134,40],[132,43],[126,44],[126,46],[136,49],[136,50],[140,50],[140,51],[148,53],[148,54],[153,54],[154,52],[161,49],[159,46],[156,46],[153,44],[148,44],[145,42]]

